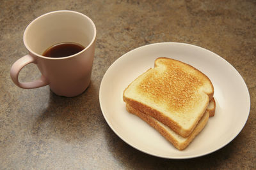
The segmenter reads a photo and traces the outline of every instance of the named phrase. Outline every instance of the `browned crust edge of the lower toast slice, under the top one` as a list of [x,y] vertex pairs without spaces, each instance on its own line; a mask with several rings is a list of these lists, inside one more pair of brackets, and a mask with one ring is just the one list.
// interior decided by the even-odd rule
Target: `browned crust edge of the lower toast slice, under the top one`
[[170,143],[172,143],[173,146],[175,146],[175,148],[177,148],[178,150],[184,150],[189,145],[189,143],[191,143],[191,141],[193,141],[193,139],[196,137],[196,135],[200,131],[202,131],[202,129],[204,129],[204,127],[207,124],[208,119],[209,119],[209,111],[205,111],[203,117],[200,119],[200,121],[196,125],[194,131],[191,132],[191,134],[187,138],[179,137],[179,138],[182,138],[182,141],[179,141],[179,139],[176,137],[176,135],[173,135],[173,133],[170,133],[170,131],[172,131],[172,129],[166,130],[166,128],[168,128],[168,127],[164,127],[164,125],[161,124],[160,122],[158,122],[156,119],[150,117],[149,115],[147,115],[145,113],[142,113],[141,111],[138,111],[138,110],[132,108],[132,106],[129,106],[129,104],[126,104],[126,109],[130,113],[140,117],[142,120],[147,122],[147,124],[149,124],[154,129],[156,129],[164,138],[166,138],[168,141],[170,141]]

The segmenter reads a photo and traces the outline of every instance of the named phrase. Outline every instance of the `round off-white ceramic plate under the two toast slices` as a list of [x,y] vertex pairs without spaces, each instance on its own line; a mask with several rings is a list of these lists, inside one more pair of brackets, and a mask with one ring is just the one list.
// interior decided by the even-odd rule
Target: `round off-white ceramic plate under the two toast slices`
[[[122,99],[125,87],[154,67],[157,57],[186,62],[206,74],[214,85],[216,114],[183,151],[125,110]],[[250,95],[236,69],[219,55],[184,43],[156,43],[125,53],[102,78],[99,99],[106,122],[121,139],[141,152],[168,159],[199,157],[222,148],[236,138],[250,113]]]

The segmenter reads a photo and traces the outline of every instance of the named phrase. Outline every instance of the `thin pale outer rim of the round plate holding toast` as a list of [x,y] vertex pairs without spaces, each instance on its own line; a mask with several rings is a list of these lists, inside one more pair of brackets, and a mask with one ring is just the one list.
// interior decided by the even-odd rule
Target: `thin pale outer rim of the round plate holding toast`
[[[209,151],[209,152],[205,152],[205,153],[201,153],[201,154],[198,153],[198,154],[195,154],[195,155],[193,155],[193,156],[190,155],[190,156],[183,156],[183,157],[182,157],[182,156],[166,157],[166,156],[163,156],[163,155],[157,155],[157,154],[154,154],[154,153],[150,153],[150,152],[147,152],[147,151],[145,151],[145,150],[142,150],[141,148],[138,148],[137,146],[132,145],[131,143],[129,143],[129,141],[127,141],[126,139],[124,139],[123,136],[122,136],[122,134],[119,134],[119,132],[117,132],[116,129],[112,127],[111,122],[109,122],[108,118],[106,117],[106,113],[104,113],[104,110],[103,110],[103,108],[102,108],[102,97],[101,97],[101,96],[102,96],[102,85],[103,85],[103,83],[104,83],[104,81],[105,81],[105,79],[106,79],[106,76],[108,76],[108,72],[112,69],[112,67],[114,67],[114,66],[119,62],[119,60],[124,59],[124,57],[126,57],[127,55],[129,55],[129,53],[132,53],[132,52],[134,52],[135,50],[140,50],[141,48],[145,48],[145,47],[147,47],[147,46],[155,46],[155,45],[163,45],[163,44],[166,44],[166,45],[184,45],[184,46],[192,46],[193,48],[199,48],[200,50],[205,50],[205,51],[207,51],[207,52],[210,52],[210,53],[212,53],[213,55],[215,55],[215,57],[218,57],[218,59],[223,60],[223,62],[225,62],[225,64],[228,64],[229,66],[231,66],[232,69],[233,69],[232,71],[236,71],[236,74],[239,75],[239,78],[242,80],[243,85],[245,85],[245,87],[246,87],[246,89],[245,89],[245,90],[246,90],[246,96],[247,96],[246,99],[248,99],[248,104],[249,104],[249,105],[248,105],[248,113],[247,113],[247,111],[246,111],[246,115],[247,115],[247,116],[246,116],[246,121],[243,122],[243,125],[242,125],[241,129],[239,130],[239,132],[237,132],[236,135],[233,136],[233,138],[230,138],[229,140],[227,140],[223,145],[221,145],[221,146],[218,147],[217,149],[213,149],[213,150],[211,150],[211,151]],[[189,63],[188,63],[188,64],[189,64]],[[164,158],[164,159],[192,159],[192,158],[196,158],[196,157],[202,157],[202,156],[204,156],[204,155],[208,155],[208,154],[210,154],[210,153],[216,152],[217,150],[220,150],[221,148],[227,146],[228,143],[230,143],[231,141],[233,141],[233,140],[240,134],[240,132],[243,130],[244,125],[245,125],[246,122],[248,121],[248,117],[249,117],[249,115],[250,115],[250,105],[251,105],[251,102],[250,102],[250,92],[249,92],[249,90],[248,90],[248,87],[247,87],[247,85],[246,85],[246,83],[245,83],[243,77],[241,76],[241,74],[237,71],[237,69],[236,69],[234,66],[232,66],[232,64],[230,64],[227,60],[223,59],[223,57],[221,57],[220,55],[218,55],[218,54],[216,54],[216,53],[214,53],[214,52],[211,52],[210,50],[207,50],[207,49],[205,49],[205,48],[202,48],[201,46],[196,46],[196,45],[192,45],[192,44],[188,44],[188,43],[180,43],[180,42],[160,42],[160,43],[152,43],[152,44],[148,44],[148,45],[143,45],[143,46],[139,46],[139,47],[137,47],[137,48],[134,48],[134,49],[132,49],[132,50],[130,50],[130,51],[124,53],[124,54],[121,55],[120,57],[118,57],[118,59],[116,59],[116,60],[108,67],[107,71],[104,73],[104,76],[102,77],[102,80],[101,80],[101,82],[100,82],[100,89],[99,89],[99,103],[100,103],[100,110],[102,111],[102,115],[103,115],[104,119],[106,120],[107,124],[109,125],[109,127],[111,128],[111,130],[112,130],[113,132],[115,132],[115,134],[116,134],[120,139],[122,139],[122,141],[124,141],[125,143],[127,143],[129,146],[132,146],[132,148],[135,148],[136,150],[140,150],[141,152],[147,153],[148,155],[153,155],[153,156],[155,156],[155,157],[161,157],[161,158]],[[181,151],[181,152],[182,152],[182,151]]]

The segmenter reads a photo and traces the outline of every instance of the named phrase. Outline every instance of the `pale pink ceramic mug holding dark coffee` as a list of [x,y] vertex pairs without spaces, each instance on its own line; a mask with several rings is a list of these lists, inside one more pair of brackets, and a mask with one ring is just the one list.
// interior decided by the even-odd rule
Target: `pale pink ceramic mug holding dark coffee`
[[[49,85],[59,96],[81,94],[90,84],[95,51],[96,27],[93,21],[76,11],[52,11],[33,20],[23,36],[28,55],[17,60],[11,68],[15,85],[34,89]],[[44,57],[42,53],[52,45],[72,42],[83,45],[81,52],[67,57]],[[20,82],[19,72],[27,64],[36,64],[42,73],[39,80]]]

